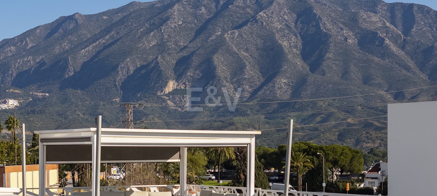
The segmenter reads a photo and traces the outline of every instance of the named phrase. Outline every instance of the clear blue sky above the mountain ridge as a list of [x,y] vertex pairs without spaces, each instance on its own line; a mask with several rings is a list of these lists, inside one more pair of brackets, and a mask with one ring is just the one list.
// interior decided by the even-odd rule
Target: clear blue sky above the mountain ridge
[[[0,40],[20,35],[24,31],[52,22],[60,16],[79,12],[95,14],[121,7],[132,0],[4,0],[0,3]],[[150,1],[150,0],[137,0]],[[397,0],[399,1],[399,0]],[[388,3],[396,0],[386,0]],[[423,4],[437,10],[437,0],[402,0]]]

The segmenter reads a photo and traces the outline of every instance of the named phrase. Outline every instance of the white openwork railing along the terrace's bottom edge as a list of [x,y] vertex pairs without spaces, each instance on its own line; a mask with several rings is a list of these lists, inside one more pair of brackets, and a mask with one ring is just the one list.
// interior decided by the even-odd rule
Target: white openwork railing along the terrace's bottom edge
[[[120,192],[120,189],[140,191],[139,188],[148,188],[148,191],[159,192],[162,187],[169,188],[173,193],[173,196],[180,195],[179,185],[143,185],[143,186],[102,186],[103,191],[115,191]],[[240,196],[247,196],[246,187],[234,187],[234,186],[207,186],[207,185],[187,185],[188,195],[200,196],[202,189],[214,190],[217,193],[238,193]],[[37,189],[30,188],[28,190]],[[46,193],[49,196],[61,196],[57,192],[63,189],[65,196],[73,195],[74,192],[91,192],[91,187],[60,187],[60,188],[46,188]],[[21,193],[21,192],[20,192]],[[38,194],[27,192],[28,195],[38,196]],[[266,190],[255,188],[255,196],[283,196],[283,190]],[[317,192],[305,192],[305,191],[290,191],[289,196],[362,196],[354,194],[341,194],[341,193],[317,193]]]

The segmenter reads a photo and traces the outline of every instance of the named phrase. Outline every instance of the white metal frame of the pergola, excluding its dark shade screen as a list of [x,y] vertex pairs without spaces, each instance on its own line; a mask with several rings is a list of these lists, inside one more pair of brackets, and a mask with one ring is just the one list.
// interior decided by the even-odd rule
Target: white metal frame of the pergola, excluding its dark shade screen
[[[101,130],[100,133],[99,130]],[[180,147],[180,196],[187,196],[187,147],[247,147],[247,194],[255,196],[255,135],[261,134],[259,131],[144,130],[98,127],[43,130],[35,131],[35,133],[39,134],[39,171],[45,171],[48,145],[91,145],[92,168],[100,168],[100,156],[97,157],[100,154],[100,147]],[[90,141],[83,140],[83,138],[90,138]],[[148,161],[163,162],[165,160]],[[45,172],[39,174],[39,195],[45,195],[46,176],[44,174]],[[100,183],[96,180],[99,179],[99,172],[93,169],[92,175],[93,196],[98,196],[100,192],[95,190],[100,189]]]

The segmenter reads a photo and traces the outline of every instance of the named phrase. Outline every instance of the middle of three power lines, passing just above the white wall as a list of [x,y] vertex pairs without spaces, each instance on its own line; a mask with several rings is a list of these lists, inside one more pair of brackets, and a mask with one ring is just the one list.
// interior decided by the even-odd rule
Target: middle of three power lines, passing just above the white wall
[[135,122],[136,123],[162,123],[162,122],[180,122],[180,121],[225,120],[225,119],[237,119],[237,118],[245,119],[245,118],[274,117],[274,116],[289,116],[289,115],[296,115],[296,114],[312,114],[312,113],[321,113],[321,112],[336,112],[336,111],[343,111],[343,110],[350,110],[350,109],[363,109],[363,108],[370,108],[370,107],[385,106],[391,103],[412,102],[412,101],[424,100],[430,98],[437,98],[437,96],[428,97],[428,98],[410,99],[400,102],[387,102],[387,103],[372,104],[372,105],[350,106],[350,107],[338,108],[338,109],[323,109],[323,110],[313,110],[313,111],[303,111],[303,112],[289,112],[289,113],[251,115],[251,116],[232,116],[232,117],[217,117],[217,118],[204,118],[204,119],[174,119],[174,120],[155,120],[155,121],[151,120],[151,121],[135,121]]

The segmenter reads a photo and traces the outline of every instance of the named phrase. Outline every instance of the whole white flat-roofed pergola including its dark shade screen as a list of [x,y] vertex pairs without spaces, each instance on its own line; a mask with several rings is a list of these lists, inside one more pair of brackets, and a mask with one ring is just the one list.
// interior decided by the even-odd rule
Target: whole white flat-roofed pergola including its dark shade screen
[[[100,133],[99,133],[100,131]],[[86,128],[35,131],[39,171],[45,164],[92,163],[93,196],[100,194],[100,163],[180,162],[180,196],[187,195],[187,147],[247,147],[247,194],[255,195],[255,135],[259,131]],[[99,154],[101,156],[99,156]],[[39,195],[45,195],[44,172]]]

